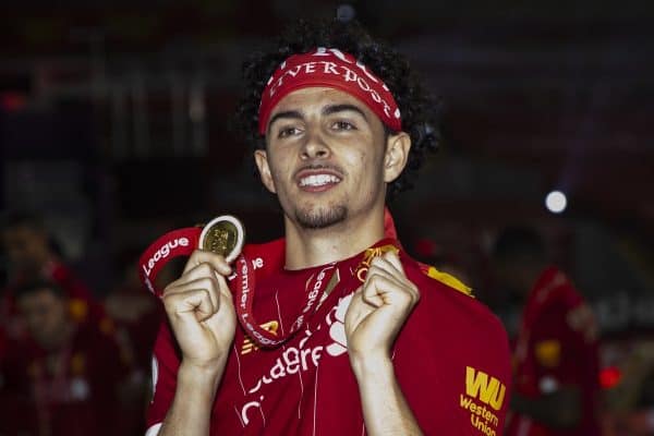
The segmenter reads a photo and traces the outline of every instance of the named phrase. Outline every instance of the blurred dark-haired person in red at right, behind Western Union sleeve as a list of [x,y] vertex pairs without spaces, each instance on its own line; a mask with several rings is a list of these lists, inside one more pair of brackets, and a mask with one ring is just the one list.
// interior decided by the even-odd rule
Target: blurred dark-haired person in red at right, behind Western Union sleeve
[[589,305],[548,263],[534,230],[505,229],[493,257],[500,281],[526,300],[507,435],[600,435],[597,329]]

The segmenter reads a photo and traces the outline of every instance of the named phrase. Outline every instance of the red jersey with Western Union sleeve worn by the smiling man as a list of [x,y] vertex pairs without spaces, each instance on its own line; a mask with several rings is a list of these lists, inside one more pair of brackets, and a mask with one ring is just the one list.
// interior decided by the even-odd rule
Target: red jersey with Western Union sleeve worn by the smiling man
[[[257,279],[254,315],[280,335],[301,313],[307,282],[323,268],[284,270],[283,252],[282,240],[244,250]],[[343,328],[358,287],[351,284],[361,284],[354,277],[360,259],[336,264],[340,281],[282,346],[259,349],[239,325],[213,408],[211,435],[365,434]],[[443,276],[435,269],[403,253],[401,261],[421,300],[396,340],[392,361],[421,428],[433,435],[501,434],[510,383],[501,324],[473,298],[436,279]],[[167,325],[153,363],[148,436],[157,434],[175,391],[180,354]]]

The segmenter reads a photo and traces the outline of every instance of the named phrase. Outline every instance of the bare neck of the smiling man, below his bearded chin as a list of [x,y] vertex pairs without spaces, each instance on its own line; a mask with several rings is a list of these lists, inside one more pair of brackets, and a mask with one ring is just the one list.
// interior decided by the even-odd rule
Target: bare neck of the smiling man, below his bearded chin
[[384,238],[384,206],[325,229],[305,229],[284,217],[286,267],[302,269],[342,261]]

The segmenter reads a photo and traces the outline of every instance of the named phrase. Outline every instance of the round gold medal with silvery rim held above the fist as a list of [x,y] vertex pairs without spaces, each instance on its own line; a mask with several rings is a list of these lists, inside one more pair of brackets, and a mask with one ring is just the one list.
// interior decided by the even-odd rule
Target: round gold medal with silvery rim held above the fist
[[231,215],[222,215],[203,228],[198,249],[220,254],[231,263],[241,254],[244,241],[245,229],[241,221]]

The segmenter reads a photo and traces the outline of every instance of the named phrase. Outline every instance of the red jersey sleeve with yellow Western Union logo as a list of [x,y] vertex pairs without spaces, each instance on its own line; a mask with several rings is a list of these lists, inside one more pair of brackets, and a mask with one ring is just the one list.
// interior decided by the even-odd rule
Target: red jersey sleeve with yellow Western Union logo
[[396,342],[393,366],[422,431],[501,434],[511,380],[502,325],[462,291],[410,278],[421,300]]

